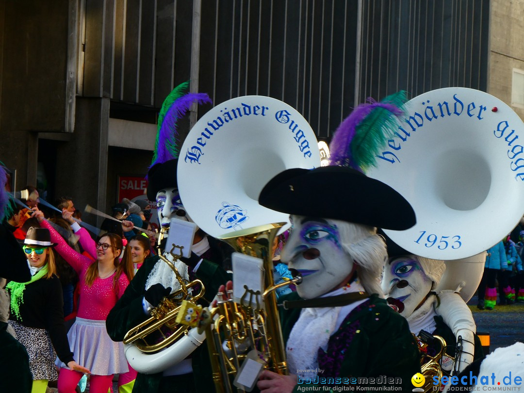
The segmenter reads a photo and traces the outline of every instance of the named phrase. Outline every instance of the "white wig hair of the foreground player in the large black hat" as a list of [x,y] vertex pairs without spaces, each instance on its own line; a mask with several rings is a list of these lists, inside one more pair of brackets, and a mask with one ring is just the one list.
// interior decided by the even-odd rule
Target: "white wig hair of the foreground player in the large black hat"
[[360,283],[366,292],[384,297],[380,288],[380,275],[387,260],[387,251],[376,228],[340,220],[328,221],[337,226],[342,248],[354,260]]

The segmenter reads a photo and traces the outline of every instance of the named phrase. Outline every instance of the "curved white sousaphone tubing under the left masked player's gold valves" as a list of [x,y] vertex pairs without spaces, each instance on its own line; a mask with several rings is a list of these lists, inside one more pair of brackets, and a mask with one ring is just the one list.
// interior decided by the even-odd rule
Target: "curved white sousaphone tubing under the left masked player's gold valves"
[[205,333],[198,334],[197,329],[191,329],[188,334],[185,334],[176,343],[154,354],[144,356],[144,353],[133,344],[124,345],[124,351],[129,365],[139,373],[156,374],[183,361],[204,340]]

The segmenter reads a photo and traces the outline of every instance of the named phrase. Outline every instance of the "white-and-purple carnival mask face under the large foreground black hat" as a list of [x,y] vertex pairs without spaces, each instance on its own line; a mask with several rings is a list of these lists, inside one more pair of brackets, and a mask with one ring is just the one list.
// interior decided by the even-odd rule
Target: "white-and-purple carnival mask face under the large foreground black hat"
[[328,293],[353,271],[353,260],[342,248],[337,225],[332,220],[291,215],[291,233],[281,260],[302,274],[297,292],[303,299]]

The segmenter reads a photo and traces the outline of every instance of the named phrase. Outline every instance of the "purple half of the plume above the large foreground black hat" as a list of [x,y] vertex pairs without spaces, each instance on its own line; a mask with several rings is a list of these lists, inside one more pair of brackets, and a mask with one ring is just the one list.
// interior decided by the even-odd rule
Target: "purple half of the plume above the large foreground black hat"
[[401,116],[402,108],[387,102],[376,102],[369,98],[368,104],[358,105],[353,112],[347,116],[336,129],[330,143],[330,165],[348,166],[353,169],[362,170],[353,158],[353,138],[370,113],[376,108],[383,108],[395,116]]

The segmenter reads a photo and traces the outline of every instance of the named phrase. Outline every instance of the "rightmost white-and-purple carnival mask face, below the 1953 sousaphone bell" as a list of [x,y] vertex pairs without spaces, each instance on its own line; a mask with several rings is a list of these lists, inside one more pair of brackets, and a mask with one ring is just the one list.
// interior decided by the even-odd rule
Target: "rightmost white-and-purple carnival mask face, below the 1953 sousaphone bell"
[[431,291],[433,281],[425,275],[414,257],[401,257],[386,262],[382,289],[386,298],[395,298],[404,304],[400,313],[406,318],[422,303]]

